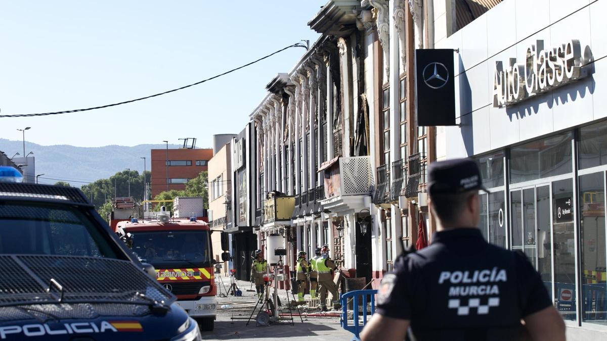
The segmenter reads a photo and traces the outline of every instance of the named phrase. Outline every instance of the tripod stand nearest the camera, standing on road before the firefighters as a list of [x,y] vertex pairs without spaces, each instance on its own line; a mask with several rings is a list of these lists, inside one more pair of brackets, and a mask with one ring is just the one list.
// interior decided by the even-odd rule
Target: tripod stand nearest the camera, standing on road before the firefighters
[[[282,279],[280,279],[280,278],[282,278]],[[283,267],[283,262],[282,262],[282,255],[279,255],[279,261],[276,264],[276,266],[274,266],[274,269],[271,274],[271,279],[274,280],[273,300],[270,300],[268,298],[268,295],[270,294],[270,290],[268,290],[268,286],[270,286],[270,282],[267,282],[265,285],[266,289],[264,290],[265,299],[263,299],[262,306],[259,309],[259,312],[257,313],[256,320],[257,320],[258,325],[267,325],[267,323],[281,322],[280,321],[279,302],[278,302],[278,282],[282,282],[284,280],[284,267]],[[290,301],[289,291],[287,289],[285,289],[285,291],[287,292],[287,301]],[[295,296],[293,295],[293,300],[294,299],[295,299]],[[257,309],[257,306],[259,305],[260,302],[262,302],[262,298],[257,300],[257,303],[256,303],[255,307],[253,308],[253,311],[251,311],[251,316],[249,316],[249,320],[246,322],[247,326],[249,325],[249,322],[251,322],[251,318],[253,318],[253,314],[255,314],[255,310]],[[267,316],[267,313],[264,311],[263,306],[266,306],[265,311],[271,311],[271,313],[272,313],[271,317]],[[301,319],[301,321],[303,323],[304,318],[301,316],[299,307],[296,306],[296,309],[297,309],[297,314],[299,315],[299,319]],[[290,313],[290,319],[287,319],[287,320],[290,321],[291,325],[294,325],[295,323],[293,320],[293,308],[291,308],[290,305],[289,305],[289,313]],[[260,320],[262,320],[262,323],[260,323]]]

